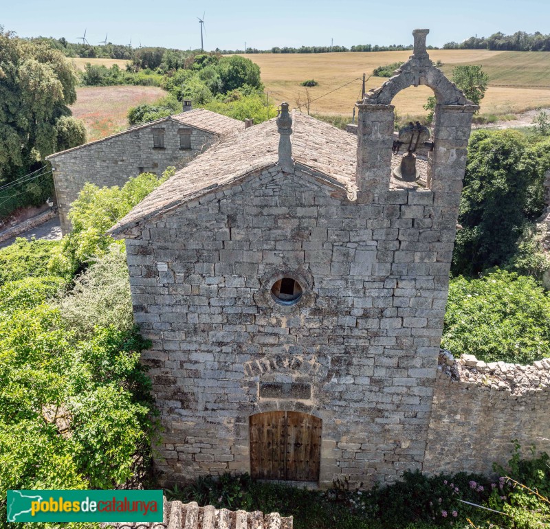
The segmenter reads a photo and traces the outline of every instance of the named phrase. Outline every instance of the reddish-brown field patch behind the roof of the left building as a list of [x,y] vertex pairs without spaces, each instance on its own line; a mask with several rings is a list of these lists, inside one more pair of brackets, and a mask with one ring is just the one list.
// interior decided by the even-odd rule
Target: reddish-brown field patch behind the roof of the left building
[[166,92],[158,87],[80,87],[71,110],[74,117],[84,121],[91,142],[127,128],[131,106],[151,103],[164,95]]

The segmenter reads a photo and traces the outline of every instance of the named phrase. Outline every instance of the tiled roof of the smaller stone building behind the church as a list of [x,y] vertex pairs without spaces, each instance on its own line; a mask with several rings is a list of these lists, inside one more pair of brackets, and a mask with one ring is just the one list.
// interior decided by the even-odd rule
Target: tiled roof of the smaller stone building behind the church
[[136,125],[130,128],[126,128],[125,131],[121,131],[120,133],[116,133],[116,134],[111,134],[110,136],[106,136],[104,138],[96,139],[94,140],[94,142],[88,142],[87,144],[78,145],[70,149],[60,150],[58,153],[54,153],[53,155],[47,156],[46,159],[50,160],[59,155],[65,155],[66,153],[70,153],[73,150],[87,148],[90,145],[96,145],[101,142],[108,142],[109,140],[122,136],[124,134],[140,131],[142,130],[142,128],[157,126],[167,121],[173,121],[182,125],[188,125],[193,128],[199,128],[201,131],[206,131],[219,136],[230,135],[244,129],[243,122],[239,120],[234,120],[232,117],[221,115],[216,112],[211,112],[206,109],[194,109],[187,112],[181,112],[175,115],[169,115],[167,117],[161,117],[159,120],[144,123],[142,125]]

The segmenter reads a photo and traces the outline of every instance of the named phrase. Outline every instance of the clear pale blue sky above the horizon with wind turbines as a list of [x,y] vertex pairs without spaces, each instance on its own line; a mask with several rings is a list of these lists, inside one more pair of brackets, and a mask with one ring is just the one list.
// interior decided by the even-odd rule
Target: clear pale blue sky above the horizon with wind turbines
[[412,44],[416,27],[441,46],[497,31],[550,32],[548,0],[0,0],[0,25],[19,36],[65,36],[87,29],[91,44],[200,47],[197,16],[206,12],[205,49],[272,46]]

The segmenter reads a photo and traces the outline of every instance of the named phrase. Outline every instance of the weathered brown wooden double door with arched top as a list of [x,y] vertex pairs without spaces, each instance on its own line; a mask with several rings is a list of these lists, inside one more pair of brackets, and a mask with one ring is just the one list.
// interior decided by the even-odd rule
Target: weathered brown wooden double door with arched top
[[259,480],[319,480],[322,420],[300,412],[250,416],[250,471]]

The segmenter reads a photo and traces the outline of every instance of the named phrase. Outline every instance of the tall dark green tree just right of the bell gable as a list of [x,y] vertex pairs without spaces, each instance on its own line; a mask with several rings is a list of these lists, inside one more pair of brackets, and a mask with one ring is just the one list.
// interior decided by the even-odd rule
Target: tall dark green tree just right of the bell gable
[[452,272],[476,275],[504,266],[525,223],[544,205],[549,161],[518,131],[476,131],[470,139]]

